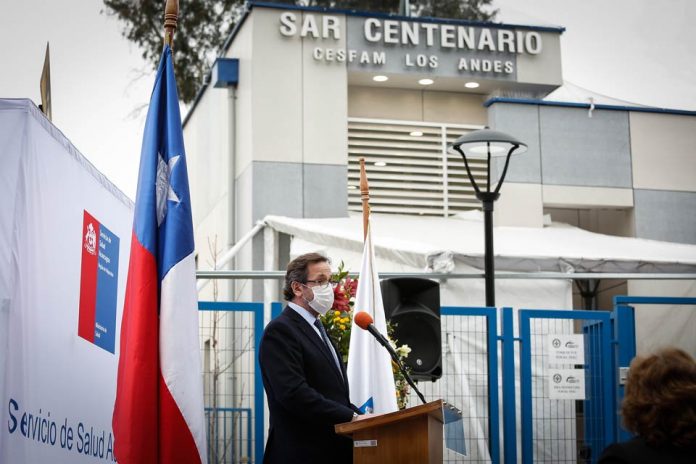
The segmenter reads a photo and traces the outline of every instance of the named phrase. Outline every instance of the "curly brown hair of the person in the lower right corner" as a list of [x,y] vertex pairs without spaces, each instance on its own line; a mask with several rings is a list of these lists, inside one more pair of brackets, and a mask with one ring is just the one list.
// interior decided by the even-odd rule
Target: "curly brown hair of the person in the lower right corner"
[[652,446],[696,444],[696,362],[686,352],[666,348],[636,357],[621,407],[626,428]]

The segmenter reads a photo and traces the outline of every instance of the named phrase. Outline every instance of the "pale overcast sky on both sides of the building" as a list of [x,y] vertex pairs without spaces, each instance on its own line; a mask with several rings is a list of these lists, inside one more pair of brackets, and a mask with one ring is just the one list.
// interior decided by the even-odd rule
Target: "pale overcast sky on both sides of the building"
[[[696,21],[696,1],[493,3],[498,22],[566,28],[564,80],[627,102],[696,110],[696,40],[687,30]],[[180,4],[185,8],[186,0]],[[154,71],[103,9],[101,0],[0,0],[0,98],[40,103],[50,42],[53,123],[135,198]]]

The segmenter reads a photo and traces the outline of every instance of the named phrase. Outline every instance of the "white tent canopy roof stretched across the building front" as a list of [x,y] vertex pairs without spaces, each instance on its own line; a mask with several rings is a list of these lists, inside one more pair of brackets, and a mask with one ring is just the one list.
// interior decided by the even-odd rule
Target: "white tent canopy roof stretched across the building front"
[[[267,216],[267,225],[296,239],[344,250],[362,249],[362,217],[294,219]],[[455,261],[483,269],[484,230],[478,211],[450,218],[373,215],[379,257],[427,271]],[[602,235],[565,224],[494,227],[496,271],[696,273],[696,245]],[[386,269],[385,269],[386,270]]]

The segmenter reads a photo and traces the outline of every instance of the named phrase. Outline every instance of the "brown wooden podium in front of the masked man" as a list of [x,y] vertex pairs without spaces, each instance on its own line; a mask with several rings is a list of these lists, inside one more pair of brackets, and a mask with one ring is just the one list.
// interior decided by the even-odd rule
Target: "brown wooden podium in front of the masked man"
[[354,464],[442,462],[443,401],[335,426],[353,439]]

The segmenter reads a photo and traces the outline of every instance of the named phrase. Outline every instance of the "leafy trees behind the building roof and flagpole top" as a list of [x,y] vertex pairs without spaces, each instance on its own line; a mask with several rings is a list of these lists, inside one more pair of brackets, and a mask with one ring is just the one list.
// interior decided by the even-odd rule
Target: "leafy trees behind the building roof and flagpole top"
[[[486,11],[492,0],[414,0],[414,16],[490,21],[497,10]],[[190,103],[225,39],[244,11],[244,0],[186,0],[182,2],[174,41],[174,72],[179,98]],[[276,3],[398,13],[399,0],[280,0]],[[163,1],[104,0],[106,14],[124,23],[123,35],[136,43],[143,58],[157,67],[163,43]]]

